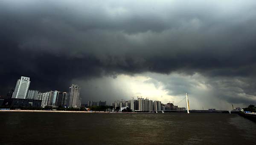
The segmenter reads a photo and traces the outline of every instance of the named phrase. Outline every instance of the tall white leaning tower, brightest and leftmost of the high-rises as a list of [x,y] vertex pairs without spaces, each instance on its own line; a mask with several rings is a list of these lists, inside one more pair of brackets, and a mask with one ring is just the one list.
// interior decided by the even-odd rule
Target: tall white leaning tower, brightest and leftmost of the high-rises
[[26,99],[26,95],[29,90],[29,84],[29,77],[21,76],[20,80],[17,80],[12,98]]

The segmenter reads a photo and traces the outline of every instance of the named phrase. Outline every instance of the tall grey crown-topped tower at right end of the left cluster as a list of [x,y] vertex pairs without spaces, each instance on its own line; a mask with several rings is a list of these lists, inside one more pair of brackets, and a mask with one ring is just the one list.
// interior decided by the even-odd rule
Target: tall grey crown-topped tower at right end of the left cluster
[[78,85],[71,85],[68,93],[69,107],[78,108],[81,106],[80,87]]

